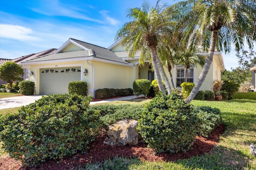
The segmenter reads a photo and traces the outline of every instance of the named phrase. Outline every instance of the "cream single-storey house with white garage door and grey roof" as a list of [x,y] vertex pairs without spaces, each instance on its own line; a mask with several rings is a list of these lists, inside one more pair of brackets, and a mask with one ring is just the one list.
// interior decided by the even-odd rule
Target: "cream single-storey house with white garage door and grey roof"
[[[149,63],[139,67],[139,55],[128,59],[128,52],[120,42],[106,49],[70,38],[54,53],[20,64],[33,73],[30,80],[35,82],[36,94],[68,93],[70,81],[82,80],[88,83],[88,95],[94,97],[99,88],[132,88],[136,79],[154,80]],[[214,53],[214,61],[201,90],[211,90],[212,81],[220,79],[220,72],[224,69],[222,54]],[[172,72],[175,84],[180,85],[184,81],[184,68],[175,66]],[[200,72],[200,67],[191,67],[189,81],[196,82]],[[166,73],[168,75],[167,69]]]

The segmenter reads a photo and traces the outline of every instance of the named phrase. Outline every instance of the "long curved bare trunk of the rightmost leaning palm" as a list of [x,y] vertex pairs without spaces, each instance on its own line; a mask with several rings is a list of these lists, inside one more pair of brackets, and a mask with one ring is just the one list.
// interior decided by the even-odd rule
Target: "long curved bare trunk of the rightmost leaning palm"
[[196,85],[194,86],[194,88],[190,92],[190,95],[188,96],[188,98],[186,98],[186,100],[185,100],[187,103],[190,103],[194,99],[194,97],[196,96],[197,92],[199,91],[200,87],[202,86],[202,83],[204,82],[204,79],[206,78],[206,75],[207,75],[207,73],[210,69],[210,66],[212,64],[214,51],[215,51],[215,47],[216,47],[217,34],[218,34],[218,30],[212,31],[211,44],[210,44],[210,48],[209,48],[209,51],[208,51],[206,61],[204,63],[204,67],[202,69],[202,72],[200,73],[200,76],[199,76],[199,78],[196,82]]

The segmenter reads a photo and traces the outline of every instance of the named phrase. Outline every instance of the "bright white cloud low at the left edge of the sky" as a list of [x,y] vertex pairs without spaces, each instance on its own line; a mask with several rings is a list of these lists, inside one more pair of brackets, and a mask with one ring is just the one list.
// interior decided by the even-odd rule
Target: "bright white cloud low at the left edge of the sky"
[[18,39],[20,41],[38,41],[38,37],[31,34],[33,30],[20,25],[0,24],[0,37],[8,39]]

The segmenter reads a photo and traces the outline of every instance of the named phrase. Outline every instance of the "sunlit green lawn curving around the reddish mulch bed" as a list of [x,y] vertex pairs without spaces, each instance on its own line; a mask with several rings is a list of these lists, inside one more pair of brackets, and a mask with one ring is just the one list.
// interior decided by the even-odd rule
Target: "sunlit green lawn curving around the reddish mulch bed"
[[[110,102],[108,104],[136,105],[149,101],[129,100]],[[226,131],[220,137],[220,142],[209,154],[178,160],[176,162],[148,162],[139,160],[138,158],[115,157],[112,160],[87,164],[84,167],[76,167],[75,169],[255,170],[256,157],[250,154],[249,147],[250,143],[256,143],[256,98],[253,96],[253,93],[236,93],[233,100],[218,102],[193,100],[192,104],[195,106],[217,107],[222,113]],[[12,111],[15,112],[15,109]],[[3,152],[0,150],[0,157],[1,154],[3,155]]]

